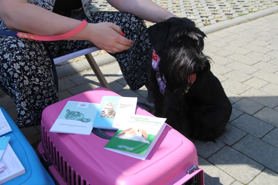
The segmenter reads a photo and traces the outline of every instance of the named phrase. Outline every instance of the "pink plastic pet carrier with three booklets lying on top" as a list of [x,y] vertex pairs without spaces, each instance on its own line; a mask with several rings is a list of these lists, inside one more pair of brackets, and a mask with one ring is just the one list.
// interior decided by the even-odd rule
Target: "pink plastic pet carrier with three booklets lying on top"
[[[44,109],[38,150],[56,184],[204,185],[194,144],[168,125],[145,161],[104,149],[108,140],[100,129],[91,135],[49,132],[68,101],[100,103],[103,96],[120,95],[97,88]],[[138,106],[136,114],[153,116]],[[105,133],[113,136],[115,131]]]

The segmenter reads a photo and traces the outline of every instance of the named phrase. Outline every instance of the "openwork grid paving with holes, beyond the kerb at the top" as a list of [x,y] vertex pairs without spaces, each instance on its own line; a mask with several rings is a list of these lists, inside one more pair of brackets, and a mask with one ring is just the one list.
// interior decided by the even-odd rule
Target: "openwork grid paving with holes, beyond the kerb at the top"
[[[152,0],[179,17],[187,17],[198,27],[234,19],[278,5],[277,0]],[[117,11],[106,0],[93,0],[91,11]],[[145,21],[147,26],[152,22]]]

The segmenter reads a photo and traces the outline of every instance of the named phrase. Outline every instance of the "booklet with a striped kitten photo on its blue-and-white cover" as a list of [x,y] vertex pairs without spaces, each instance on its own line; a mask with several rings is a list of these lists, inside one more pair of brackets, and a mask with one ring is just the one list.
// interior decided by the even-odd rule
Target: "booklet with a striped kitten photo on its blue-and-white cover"
[[93,127],[117,130],[125,117],[135,114],[136,105],[137,98],[104,96]]

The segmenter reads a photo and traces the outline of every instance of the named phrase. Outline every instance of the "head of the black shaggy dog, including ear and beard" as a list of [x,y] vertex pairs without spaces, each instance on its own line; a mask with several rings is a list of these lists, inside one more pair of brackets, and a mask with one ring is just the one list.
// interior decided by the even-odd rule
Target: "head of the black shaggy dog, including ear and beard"
[[200,79],[209,73],[211,59],[202,53],[206,35],[193,21],[171,17],[150,26],[147,31],[160,57],[160,75],[164,75],[170,91],[185,89],[192,74]]

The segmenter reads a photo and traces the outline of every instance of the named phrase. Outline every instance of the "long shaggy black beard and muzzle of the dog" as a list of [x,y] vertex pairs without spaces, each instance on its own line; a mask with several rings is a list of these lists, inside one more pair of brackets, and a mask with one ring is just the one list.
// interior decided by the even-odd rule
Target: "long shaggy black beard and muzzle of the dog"
[[190,85],[190,75],[198,79],[207,77],[210,71],[209,56],[194,48],[177,45],[160,52],[159,70],[171,92],[183,92]]

